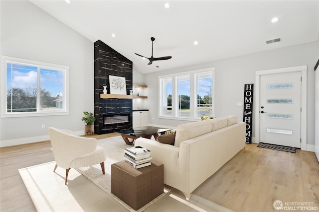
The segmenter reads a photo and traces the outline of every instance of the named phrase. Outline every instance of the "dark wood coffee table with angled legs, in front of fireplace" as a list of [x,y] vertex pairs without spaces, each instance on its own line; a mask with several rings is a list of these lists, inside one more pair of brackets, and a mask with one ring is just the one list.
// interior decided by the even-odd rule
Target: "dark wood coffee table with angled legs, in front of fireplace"
[[[162,135],[169,130],[170,129],[162,129],[158,127],[141,127],[131,130],[121,130],[117,133],[121,134],[126,144],[133,145],[133,142],[140,137],[151,139],[152,136],[154,136],[154,138],[156,139],[159,137],[159,135]],[[133,141],[129,141],[129,138],[133,139]]]

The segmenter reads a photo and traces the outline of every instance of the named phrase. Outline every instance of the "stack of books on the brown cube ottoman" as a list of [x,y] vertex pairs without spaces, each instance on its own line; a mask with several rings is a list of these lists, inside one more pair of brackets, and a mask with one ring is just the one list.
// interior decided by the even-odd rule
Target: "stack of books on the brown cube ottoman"
[[142,146],[125,148],[124,153],[125,161],[136,169],[151,165],[151,151]]

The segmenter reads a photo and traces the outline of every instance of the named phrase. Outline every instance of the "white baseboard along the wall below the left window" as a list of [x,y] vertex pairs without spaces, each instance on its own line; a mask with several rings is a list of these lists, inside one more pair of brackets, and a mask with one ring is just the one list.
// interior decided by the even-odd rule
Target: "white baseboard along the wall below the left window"
[[[85,135],[85,131],[76,131],[76,132],[73,132],[73,135],[76,135],[76,136]],[[48,141],[48,140],[50,140],[49,135],[20,138],[20,139],[11,139],[11,140],[0,141],[0,147],[14,146],[14,145],[20,145],[20,144],[26,144],[26,143],[35,143],[35,142]]]

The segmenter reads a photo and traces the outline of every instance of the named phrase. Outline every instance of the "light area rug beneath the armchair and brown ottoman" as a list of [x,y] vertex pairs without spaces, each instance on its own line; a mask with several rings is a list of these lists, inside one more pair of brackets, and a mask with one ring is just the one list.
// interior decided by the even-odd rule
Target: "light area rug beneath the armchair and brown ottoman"
[[[72,201],[71,199],[74,198],[74,195],[75,195],[71,191],[72,184],[74,185],[75,183],[80,182],[81,177],[85,176],[87,179],[93,182],[98,188],[100,188],[100,190],[105,192],[107,195],[111,196],[114,200],[120,203],[128,211],[136,212],[134,209],[132,209],[130,206],[125,204],[122,200],[120,200],[119,198],[117,198],[115,195],[111,193],[111,164],[123,160],[124,149],[126,147],[129,147],[130,145],[127,145],[123,141],[122,137],[120,136],[98,140],[98,145],[101,147],[104,147],[107,150],[107,158],[105,161],[105,175],[102,174],[100,164],[90,166],[90,167],[77,168],[76,170],[78,172],[74,170],[73,172],[72,171],[69,172],[68,186],[65,186],[63,183],[64,177],[65,177],[65,170],[62,168],[58,168],[56,172],[54,173],[53,172],[53,168],[55,165],[54,161],[49,163],[39,164],[36,166],[26,167],[26,168],[18,170],[30,194],[31,199],[34,202],[34,205],[37,211],[59,211],[59,209],[56,209],[56,208],[53,209],[53,206],[52,206],[53,203],[50,202],[50,200],[52,199],[51,196],[54,196],[54,198],[56,198],[56,195],[58,195],[57,191],[66,190],[65,191],[66,196],[64,196],[64,199],[66,198]],[[48,175],[48,176],[44,177],[43,175]],[[45,180],[48,180],[47,178],[50,178],[50,181],[43,182]],[[47,186],[48,183],[51,185]],[[79,184],[81,185],[81,183]],[[150,203],[148,203],[147,205],[139,209],[137,212],[144,211],[145,209],[150,207],[152,204],[160,200],[160,198],[168,194],[171,190],[172,190],[171,187],[164,185],[164,192],[159,197],[157,197],[156,199],[154,199],[153,201],[151,201]],[[95,191],[95,192],[99,192],[99,191]],[[90,194],[88,193],[88,195]],[[86,208],[86,206],[83,206],[83,205],[80,206],[79,202],[81,201],[73,201],[73,202],[75,206],[74,208],[71,208],[70,211],[81,211],[81,210],[91,211],[92,210],[92,209]],[[85,200],[82,202],[85,202]],[[68,210],[63,209],[63,211],[68,211]]]

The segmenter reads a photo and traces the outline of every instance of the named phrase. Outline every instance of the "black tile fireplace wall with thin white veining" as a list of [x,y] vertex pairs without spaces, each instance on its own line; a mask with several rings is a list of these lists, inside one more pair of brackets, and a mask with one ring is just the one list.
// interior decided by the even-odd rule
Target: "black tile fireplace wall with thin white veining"
[[[101,99],[103,86],[107,86],[110,94],[109,75],[122,76],[126,79],[126,92],[133,89],[133,63],[102,41],[94,43],[94,132],[106,134],[121,129],[132,128],[132,99]],[[125,124],[104,125],[105,115],[130,114],[130,122]]]

